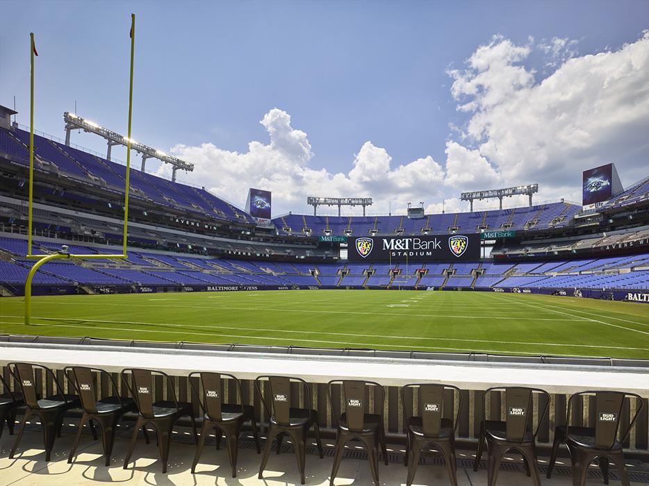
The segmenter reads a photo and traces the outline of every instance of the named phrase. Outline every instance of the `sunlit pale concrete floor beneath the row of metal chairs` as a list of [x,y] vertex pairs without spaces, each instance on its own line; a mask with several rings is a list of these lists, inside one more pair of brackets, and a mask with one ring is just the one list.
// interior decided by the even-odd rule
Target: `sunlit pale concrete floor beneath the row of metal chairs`
[[[67,422],[67,421],[66,421]],[[101,457],[101,441],[93,441],[90,434],[86,433],[81,439],[79,451],[74,464],[67,464],[67,455],[72,447],[75,426],[65,426],[63,436],[56,440],[52,460],[44,461],[42,451],[42,433],[40,426],[28,426],[26,428],[21,445],[16,457],[8,459],[10,447],[13,445],[15,436],[8,434],[5,428],[0,439],[0,485],[16,486],[42,486],[42,485],[93,485],[101,483],[121,483],[129,485],[264,485],[264,486],[289,486],[299,485],[299,474],[292,446],[284,444],[282,453],[272,453],[268,461],[268,467],[264,472],[264,479],[257,479],[258,467],[261,455],[257,455],[252,446],[252,441],[242,437],[238,458],[237,478],[231,478],[231,470],[227,459],[227,451],[224,446],[217,451],[213,439],[206,444],[202,458],[197,466],[197,474],[190,473],[190,467],[195,453],[195,445],[188,430],[178,428],[174,433],[171,445],[169,468],[167,474],[162,474],[161,464],[158,461],[158,448],[156,447],[154,435],[151,435],[151,444],[146,445],[140,439],[135,447],[129,469],[122,469],[124,455],[129,444],[128,437],[131,430],[124,428],[118,433],[115,440],[115,449],[110,467],[104,467],[104,459]],[[286,442],[286,441],[285,441]],[[328,485],[331,472],[331,449],[333,441],[325,440],[324,444],[328,451],[325,451],[325,458],[320,459],[318,455],[310,453],[306,457],[306,484],[307,485]],[[262,439],[263,447],[263,439]],[[347,453],[340,466],[335,484],[342,485],[372,485],[368,461],[362,458],[353,458],[354,455],[364,455],[361,449],[352,449]],[[406,468],[402,465],[402,449],[391,448],[388,444],[388,456],[391,462],[388,466],[382,462],[379,466],[381,485],[404,485],[406,479]],[[486,485],[486,470],[479,469],[473,472],[470,464],[473,460],[473,451],[457,451],[458,468],[457,476],[459,486]],[[486,455],[484,456],[484,459]],[[133,460],[135,464],[133,465]],[[427,458],[429,464],[420,464],[415,478],[416,485],[448,485],[450,484],[445,468],[439,465],[433,457]],[[483,461],[484,463],[484,461]],[[634,477],[645,483],[649,482],[647,464],[630,464],[630,470],[635,471]],[[541,479],[543,485],[568,486],[571,484],[569,469],[566,468],[564,459],[557,462],[557,473],[552,479],[545,478],[545,467],[547,458],[539,458],[541,467]],[[644,467],[643,467],[644,466]],[[593,475],[598,473],[593,470]],[[589,479],[588,485],[603,485],[601,478]],[[619,481],[611,480],[611,485],[620,484]],[[632,483],[639,485],[641,483]],[[646,483],[645,483],[646,484]],[[518,486],[532,485],[532,479],[525,476],[520,455],[512,455],[504,461],[498,476],[498,485]]]

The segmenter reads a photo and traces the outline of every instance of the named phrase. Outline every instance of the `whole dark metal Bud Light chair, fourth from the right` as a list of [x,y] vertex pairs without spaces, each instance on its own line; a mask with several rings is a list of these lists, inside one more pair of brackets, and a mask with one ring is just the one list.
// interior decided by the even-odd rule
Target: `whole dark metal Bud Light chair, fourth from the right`
[[[343,410],[333,398],[334,385],[341,385]],[[374,394],[374,410],[379,413],[369,413],[370,393]],[[368,451],[370,471],[375,484],[379,485],[379,446],[383,450],[383,458],[388,465],[386,435],[383,426],[383,408],[386,398],[385,389],[373,381],[364,380],[331,380],[327,383],[327,395],[331,403],[332,416],[336,417],[338,430],[336,433],[336,453],[334,467],[331,469],[329,485],[334,485],[340,462],[343,460],[345,444],[352,439],[358,439]],[[340,415],[338,414],[338,412]]]

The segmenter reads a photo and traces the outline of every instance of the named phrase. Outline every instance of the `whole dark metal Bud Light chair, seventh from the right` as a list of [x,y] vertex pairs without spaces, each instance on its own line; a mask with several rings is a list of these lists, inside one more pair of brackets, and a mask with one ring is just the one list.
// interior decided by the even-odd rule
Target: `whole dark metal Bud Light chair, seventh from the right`
[[[132,388],[129,385],[129,375],[133,378]],[[163,380],[167,382],[167,396],[171,392],[173,400],[153,401],[154,376],[162,376]],[[129,467],[131,454],[133,454],[133,449],[135,449],[135,442],[138,441],[138,431],[145,425],[151,424],[158,437],[158,449],[160,450],[160,459],[163,463],[163,474],[165,474],[167,472],[167,459],[169,458],[172,429],[180,417],[188,416],[192,419],[194,439],[198,441],[194,408],[191,403],[179,402],[176,399],[174,382],[170,376],[162,371],[127,368],[122,370],[122,380],[135,399],[135,405],[137,405],[139,412],[138,421],[133,429],[131,445],[124,458],[124,469]]]

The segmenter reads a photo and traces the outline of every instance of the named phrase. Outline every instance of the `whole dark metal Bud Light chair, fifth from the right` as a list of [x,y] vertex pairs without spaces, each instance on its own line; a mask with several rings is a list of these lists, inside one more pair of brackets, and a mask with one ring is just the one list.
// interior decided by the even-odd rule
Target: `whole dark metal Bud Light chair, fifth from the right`
[[[309,429],[313,426],[315,432],[315,442],[318,444],[320,459],[322,459],[322,443],[320,442],[320,427],[318,426],[318,412],[311,408],[311,387],[309,383],[301,378],[291,378],[289,376],[258,376],[255,380],[255,386],[261,396],[261,403],[265,409],[269,421],[268,438],[264,449],[261,466],[259,467],[258,478],[261,479],[263,470],[268,462],[270,448],[273,439],[277,437],[277,453],[281,448],[281,439],[284,434],[288,435],[295,447],[295,457],[297,458],[297,469],[302,484],[304,484],[304,467],[306,464],[306,438],[309,435]],[[270,407],[266,403],[261,390],[261,382],[268,383],[270,387]],[[291,407],[295,403],[295,394],[291,393],[292,386],[302,387],[304,394],[304,404],[308,408]],[[299,392],[298,392],[299,394]],[[292,400],[293,398],[293,400]]]

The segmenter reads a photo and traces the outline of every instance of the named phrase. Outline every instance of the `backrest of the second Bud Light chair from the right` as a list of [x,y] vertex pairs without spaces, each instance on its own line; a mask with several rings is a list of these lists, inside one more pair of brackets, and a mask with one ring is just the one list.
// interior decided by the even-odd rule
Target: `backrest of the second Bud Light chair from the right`
[[[521,442],[529,431],[536,437],[539,433],[541,422],[545,419],[550,408],[550,394],[543,389],[529,387],[492,387],[484,392],[482,397],[482,417],[485,411],[485,399],[491,392],[505,392],[505,438],[508,442]],[[543,412],[538,414],[539,422],[532,431],[534,417],[534,394],[545,396]]]

